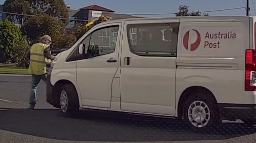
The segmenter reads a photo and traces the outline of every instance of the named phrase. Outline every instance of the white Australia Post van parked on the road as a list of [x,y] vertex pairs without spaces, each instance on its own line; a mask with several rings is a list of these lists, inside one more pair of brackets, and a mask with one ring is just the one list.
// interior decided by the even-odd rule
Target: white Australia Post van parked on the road
[[132,18],[96,25],[61,52],[47,102],[175,117],[204,128],[255,123],[256,17]]

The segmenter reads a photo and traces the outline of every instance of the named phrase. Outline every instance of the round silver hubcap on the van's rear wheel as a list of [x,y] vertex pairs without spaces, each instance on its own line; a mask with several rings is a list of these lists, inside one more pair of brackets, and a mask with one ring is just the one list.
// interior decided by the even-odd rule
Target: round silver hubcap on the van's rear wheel
[[193,126],[202,128],[210,121],[210,109],[203,101],[194,101],[189,105],[188,118]]

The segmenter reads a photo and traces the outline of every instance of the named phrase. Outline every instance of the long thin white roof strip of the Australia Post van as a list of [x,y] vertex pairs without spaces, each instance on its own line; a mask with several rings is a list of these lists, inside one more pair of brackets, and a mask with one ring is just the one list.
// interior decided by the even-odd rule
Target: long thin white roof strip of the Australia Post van
[[118,20],[110,20],[108,22],[102,22],[98,25],[103,24],[111,24],[116,22],[125,22],[125,21],[132,21],[132,20],[170,20],[170,19],[180,19],[180,22],[203,22],[203,21],[243,21],[248,20],[250,17],[254,16],[176,16],[176,17],[140,17],[140,18],[124,18]]

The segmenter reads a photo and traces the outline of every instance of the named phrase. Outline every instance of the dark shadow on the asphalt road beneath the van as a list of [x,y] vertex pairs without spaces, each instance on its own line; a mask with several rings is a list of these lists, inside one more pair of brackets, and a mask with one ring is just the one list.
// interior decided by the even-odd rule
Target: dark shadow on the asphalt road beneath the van
[[243,123],[222,123],[194,132],[172,119],[91,110],[66,118],[55,109],[0,109],[0,129],[70,141],[195,141],[256,133],[256,127]]

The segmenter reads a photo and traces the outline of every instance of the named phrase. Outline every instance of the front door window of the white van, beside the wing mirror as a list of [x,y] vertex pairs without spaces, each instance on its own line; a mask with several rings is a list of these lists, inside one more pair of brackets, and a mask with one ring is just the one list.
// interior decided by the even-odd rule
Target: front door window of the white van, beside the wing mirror
[[[67,62],[82,60],[87,58],[93,58],[95,56],[101,56],[110,54],[116,49],[116,42],[118,37],[119,25],[104,27],[93,31],[91,34],[86,36],[81,43],[88,47],[88,54],[82,56],[78,52],[78,47],[75,47],[74,51],[67,58]],[[78,44],[80,45],[80,43]]]

